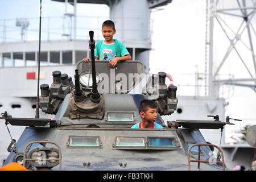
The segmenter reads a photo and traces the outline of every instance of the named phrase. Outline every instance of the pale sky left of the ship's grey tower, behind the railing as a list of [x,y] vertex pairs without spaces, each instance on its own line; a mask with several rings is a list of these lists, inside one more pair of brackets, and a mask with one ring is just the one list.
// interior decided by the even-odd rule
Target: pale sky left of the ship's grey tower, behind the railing
[[[6,19],[6,26],[9,31],[6,33],[7,41],[20,40],[20,31],[15,27],[16,18],[28,18],[30,24],[28,26],[28,34],[26,40],[38,40],[39,37],[39,15],[40,1],[39,0],[0,0],[0,40],[2,40],[3,19]],[[30,8],[32,7],[32,8]],[[61,34],[68,33],[63,31],[63,15],[65,13],[65,4],[61,2],[43,0],[42,1],[42,40],[47,40],[48,27],[51,28],[49,39],[62,39]],[[67,13],[73,13],[73,6],[67,6]],[[109,16],[109,7],[106,5],[94,5],[87,3],[79,3],[77,6],[77,38],[85,39],[84,29],[86,24],[90,22],[90,28],[97,30],[103,19]],[[51,18],[48,18],[51,16]],[[100,17],[100,18],[98,18]],[[91,21],[90,19],[93,19]],[[69,19],[65,19],[65,27]],[[92,23],[94,22],[94,23]],[[14,31],[15,30],[15,31]]]

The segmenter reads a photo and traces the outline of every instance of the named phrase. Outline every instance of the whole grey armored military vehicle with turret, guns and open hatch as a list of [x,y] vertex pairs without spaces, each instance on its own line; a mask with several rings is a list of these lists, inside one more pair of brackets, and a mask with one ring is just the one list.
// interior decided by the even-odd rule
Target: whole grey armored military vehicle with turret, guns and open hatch
[[[27,126],[18,142],[11,141],[5,164],[18,162],[28,169],[53,170],[225,170],[222,151],[209,144],[199,129],[223,129],[218,121],[167,121],[174,113],[176,86],[165,84],[166,73],[153,74],[142,94],[130,94],[141,84],[144,65],[95,61],[93,31],[89,32],[92,61],[77,63],[75,85],[67,74],[52,73],[53,82],[40,85],[40,109],[52,119],[12,118],[2,113],[6,126]],[[141,121],[139,103],[158,105],[157,123],[163,129],[131,129]],[[182,127],[181,127],[182,126]],[[214,158],[213,147],[220,151]],[[220,160],[221,159],[221,160]],[[192,163],[197,162],[197,163]]]

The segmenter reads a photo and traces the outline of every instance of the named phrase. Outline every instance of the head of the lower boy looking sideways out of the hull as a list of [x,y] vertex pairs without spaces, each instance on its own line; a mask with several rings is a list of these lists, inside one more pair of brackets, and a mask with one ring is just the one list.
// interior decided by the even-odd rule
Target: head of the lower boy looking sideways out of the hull
[[155,122],[158,118],[158,105],[152,100],[141,101],[139,115],[141,115],[143,121]]

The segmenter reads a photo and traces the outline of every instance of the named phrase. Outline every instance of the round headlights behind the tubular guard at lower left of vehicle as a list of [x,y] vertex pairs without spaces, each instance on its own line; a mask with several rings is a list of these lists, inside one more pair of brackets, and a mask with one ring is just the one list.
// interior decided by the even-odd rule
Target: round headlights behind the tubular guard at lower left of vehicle
[[57,160],[59,159],[59,150],[57,148],[36,147],[28,153],[27,159],[36,168],[52,168],[59,164],[59,160]]

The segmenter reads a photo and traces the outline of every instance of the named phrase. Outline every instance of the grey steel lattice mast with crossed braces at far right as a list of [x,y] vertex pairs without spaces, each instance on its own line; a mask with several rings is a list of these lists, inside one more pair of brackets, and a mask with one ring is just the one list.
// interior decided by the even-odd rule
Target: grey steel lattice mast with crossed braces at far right
[[[211,3],[213,3],[214,0],[211,0]],[[256,92],[256,60],[255,60],[255,53],[254,53],[254,47],[253,47],[253,40],[251,36],[251,30],[255,30],[251,24],[251,20],[253,19],[254,15],[256,14],[256,2],[252,2],[253,6],[246,6],[245,0],[237,0],[238,7],[237,8],[232,8],[232,9],[217,9],[214,10],[214,16],[210,16],[210,52],[209,52],[209,96],[213,96],[215,90],[218,90],[221,85],[235,85],[235,86],[246,86],[248,88],[253,89]],[[214,8],[217,6],[216,4],[211,5],[211,8]],[[237,14],[237,11],[240,10],[241,14]],[[247,13],[247,10],[250,10],[250,13]],[[242,22],[240,24],[240,27],[237,30],[233,30],[234,28],[231,28],[224,19],[221,18],[219,14],[225,14],[229,16],[236,16],[242,18]],[[211,14],[212,15],[212,14]],[[213,18],[216,19],[217,24],[221,27],[222,31],[226,35],[226,38],[228,38],[228,41],[230,43],[228,49],[226,50],[225,56],[221,60],[221,63],[217,65],[217,69],[214,72],[214,76],[212,75],[212,61],[213,61],[213,55],[212,55],[212,49],[213,49],[213,44],[212,44],[212,36],[213,36]],[[251,26],[251,27],[250,27]],[[227,28],[226,28],[227,27]],[[228,34],[226,29],[229,29],[233,32],[232,35]],[[243,39],[242,34],[247,30],[247,38],[249,40],[250,46],[247,46],[245,43],[245,39]],[[237,43],[240,42],[243,44],[245,48],[247,48],[252,56],[252,61],[254,65],[254,69],[250,68],[248,63],[246,62],[245,58],[241,55],[241,50],[238,49]],[[235,51],[238,56],[238,60],[242,61],[242,64],[244,68],[246,69],[247,73],[249,73],[250,78],[230,78],[230,79],[224,79],[224,80],[219,80],[216,76],[219,74],[220,69],[222,68],[223,64],[225,61],[228,59],[230,53],[232,51]],[[240,68],[242,69],[242,67]],[[253,76],[253,73],[251,73],[251,70],[255,72],[255,76]],[[214,89],[214,82],[218,84],[218,88]],[[251,83],[254,82],[254,83]]]

